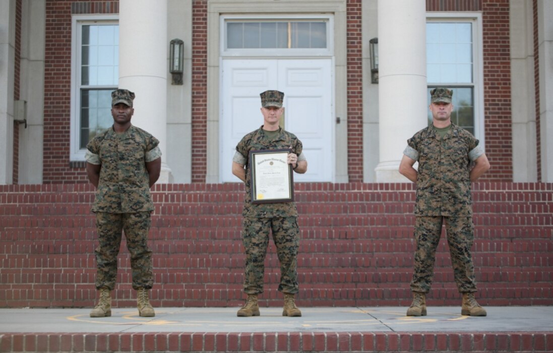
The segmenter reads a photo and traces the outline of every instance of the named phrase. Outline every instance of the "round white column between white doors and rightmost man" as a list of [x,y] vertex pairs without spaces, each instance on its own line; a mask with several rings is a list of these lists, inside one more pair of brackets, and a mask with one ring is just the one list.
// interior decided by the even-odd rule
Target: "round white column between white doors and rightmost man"
[[426,126],[424,0],[378,0],[379,155],[377,183],[407,182],[399,162],[407,139]]

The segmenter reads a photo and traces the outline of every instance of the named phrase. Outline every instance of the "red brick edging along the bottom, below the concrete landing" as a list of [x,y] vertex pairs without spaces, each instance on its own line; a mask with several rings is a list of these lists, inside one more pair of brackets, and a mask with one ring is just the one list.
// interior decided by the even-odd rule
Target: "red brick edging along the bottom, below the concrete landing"
[[551,352],[551,333],[24,333],[2,352]]

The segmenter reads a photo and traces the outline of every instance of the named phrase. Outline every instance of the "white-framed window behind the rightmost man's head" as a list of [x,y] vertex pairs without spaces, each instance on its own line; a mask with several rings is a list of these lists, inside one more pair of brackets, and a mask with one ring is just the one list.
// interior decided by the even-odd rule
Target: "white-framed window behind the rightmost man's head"
[[[430,90],[448,87],[453,91],[451,121],[483,139],[482,69],[477,18],[429,18],[426,23],[426,74]],[[432,115],[428,113],[429,124]]]

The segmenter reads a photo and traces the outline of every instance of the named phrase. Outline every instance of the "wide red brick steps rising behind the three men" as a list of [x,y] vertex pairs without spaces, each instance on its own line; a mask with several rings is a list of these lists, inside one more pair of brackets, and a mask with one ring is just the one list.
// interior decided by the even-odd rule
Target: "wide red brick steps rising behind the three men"
[[[301,247],[298,305],[410,303],[413,271],[411,184],[298,184]],[[474,184],[473,258],[483,305],[553,304],[553,184]],[[85,184],[0,186],[0,307],[91,307],[97,246]],[[156,185],[150,232],[155,307],[242,303],[243,186]],[[447,242],[436,259],[430,305],[457,305]],[[274,245],[262,306],[280,305]],[[126,245],[119,255],[115,307],[135,292]]]

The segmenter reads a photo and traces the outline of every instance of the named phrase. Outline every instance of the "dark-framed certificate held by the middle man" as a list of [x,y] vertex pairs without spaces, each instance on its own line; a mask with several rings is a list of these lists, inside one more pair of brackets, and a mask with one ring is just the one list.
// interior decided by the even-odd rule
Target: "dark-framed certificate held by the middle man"
[[249,152],[252,204],[294,201],[289,149],[265,149]]

